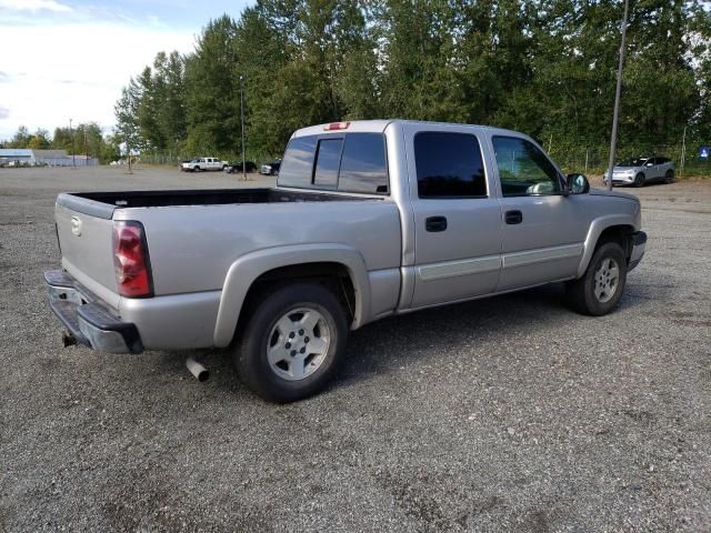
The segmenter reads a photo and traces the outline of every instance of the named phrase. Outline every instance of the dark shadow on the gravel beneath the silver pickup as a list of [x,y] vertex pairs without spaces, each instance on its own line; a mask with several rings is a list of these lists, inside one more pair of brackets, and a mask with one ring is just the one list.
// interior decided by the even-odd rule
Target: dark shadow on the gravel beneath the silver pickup
[[[660,290],[659,286],[654,289]],[[661,290],[662,294],[654,294],[655,300],[664,299],[663,288]],[[628,285],[620,308],[614,312],[648,305],[651,300],[648,292],[644,285]],[[495,342],[509,335],[529,336],[534,331],[548,334],[559,332],[562,324],[602,319],[570,310],[561,283],[390,316],[350,333],[344,364],[327,390],[336,391],[374,374],[411,365],[431,356],[432,351],[452,352],[481,339]],[[188,354],[179,359],[172,356],[174,354],[177,352],[166,359],[166,364],[171,366],[171,372],[181,374],[181,379],[191,380],[189,374],[186,376],[183,364]],[[250,395],[233,371],[229,351],[212,349],[194,355],[210,370],[213,386]]]

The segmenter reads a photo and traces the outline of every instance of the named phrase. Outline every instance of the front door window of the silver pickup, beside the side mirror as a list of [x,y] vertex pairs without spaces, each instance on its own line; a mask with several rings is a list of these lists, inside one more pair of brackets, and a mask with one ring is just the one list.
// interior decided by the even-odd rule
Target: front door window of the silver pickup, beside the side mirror
[[560,194],[558,170],[530,141],[494,137],[493,150],[504,197]]

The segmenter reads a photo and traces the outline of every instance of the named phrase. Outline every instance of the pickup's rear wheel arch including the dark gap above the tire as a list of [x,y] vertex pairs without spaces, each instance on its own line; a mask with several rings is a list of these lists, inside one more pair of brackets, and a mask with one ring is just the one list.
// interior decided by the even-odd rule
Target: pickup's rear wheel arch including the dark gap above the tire
[[[224,348],[234,336],[250,298],[284,280],[347,276],[346,299],[352,298],[351,329],[368,320],[370,281],[360,252],[342,244],[300,244],[259,250],[239,258],[228,270],[214,328],[214,345]],[[343,278],[341,278],[343,279]],[[338,294],[337,294],[338,295]]]

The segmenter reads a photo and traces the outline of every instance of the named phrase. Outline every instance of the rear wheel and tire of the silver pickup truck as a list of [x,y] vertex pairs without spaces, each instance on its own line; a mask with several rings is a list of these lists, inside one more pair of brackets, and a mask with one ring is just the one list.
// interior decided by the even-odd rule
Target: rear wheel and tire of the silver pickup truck
[[331,291],[316,283],[286,285],[259,298],[250,311],[232,352],[249,389],[267,401],[287,403],[331,381],[348,339],[346,312]]

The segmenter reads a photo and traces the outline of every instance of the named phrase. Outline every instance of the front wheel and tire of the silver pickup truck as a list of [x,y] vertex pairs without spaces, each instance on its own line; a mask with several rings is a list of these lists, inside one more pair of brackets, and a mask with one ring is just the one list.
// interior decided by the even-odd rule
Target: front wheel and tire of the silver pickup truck
[[620,303],[625,283],[624,251],[617,242],[605,242],[595,250],[583,276],[568,282],[565,293],[577,312],[601,316]]

